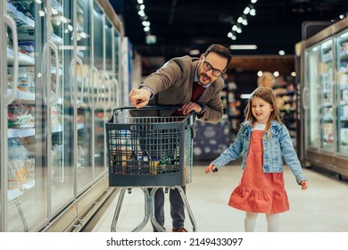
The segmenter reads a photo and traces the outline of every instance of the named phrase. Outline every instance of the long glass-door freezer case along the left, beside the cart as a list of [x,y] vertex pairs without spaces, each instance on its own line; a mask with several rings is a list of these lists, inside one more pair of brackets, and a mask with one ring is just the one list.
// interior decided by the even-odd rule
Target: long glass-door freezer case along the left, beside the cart
[[112,192],[122,24],[105,0],[0,7],[0,231],[78,231]]

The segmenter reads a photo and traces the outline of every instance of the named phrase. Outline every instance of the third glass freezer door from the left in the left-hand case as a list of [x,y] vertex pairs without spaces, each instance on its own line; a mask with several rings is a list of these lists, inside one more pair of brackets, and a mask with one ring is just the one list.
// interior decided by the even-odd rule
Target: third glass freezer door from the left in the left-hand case
[[[75,67],[72,71],[76,73],[76,78],[70,83],[76,87],[76,96],[72,101],[74,104],[74,116],[77,124],[77,141],[75,145],[75,163],[77,195],[86,190],[93,182],[92,165],[92,109],[88,100],[88,80],[87,74],[92,66],[91,52],[91,9],[90,1],[77,0],[75,13],[76,54],[78,59],[74,61]],[[83,96],[83,98],[81,98]]]

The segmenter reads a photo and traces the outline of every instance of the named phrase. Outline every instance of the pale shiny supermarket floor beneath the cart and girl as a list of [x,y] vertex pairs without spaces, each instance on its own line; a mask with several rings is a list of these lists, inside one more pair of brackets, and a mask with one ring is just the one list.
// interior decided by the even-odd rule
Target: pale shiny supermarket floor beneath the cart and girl
[[[192,183],[187,185],[186,196],[195,215],[198,232],[244,231],[244,212],[229,207],[227,202],[232,189],[237,185],[242,171],[239,166],[226,166],[219,172],[206,175],[205,165],[195,165]],[[290,211],[280,216],[281,230],[285,232],[346,232],[348,231],[348,183],[327,177],[315,171],[304,169],[309,179],[309,188],[302,191],[295,183],[294,176],[286,167],[286,191]],[[109,232],[113,213],[118,201],[116,191],[104,205],[104,211],[87,225],[84,231]],[[167,231],[171,230],[168,195],[166,196]],[[186,216],[186,229],[192,225]],[[266,231],[267,222],[259,215],[256,230]],[[132,194],[126,193],[117,231],[127,232],[136,228],[144,218],[144,195],[135,188]],[[143,232],[151,232],[149,222]]]

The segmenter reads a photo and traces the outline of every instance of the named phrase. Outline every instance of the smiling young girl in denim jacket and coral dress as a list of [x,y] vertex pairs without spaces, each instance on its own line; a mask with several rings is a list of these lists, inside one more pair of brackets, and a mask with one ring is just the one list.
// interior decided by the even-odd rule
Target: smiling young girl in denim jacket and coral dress
[[243,176],[228,204],[245,211],[246,232],[255,229],[259,213],[266,214],[269,232],[278,231],[278,213],[289,210],[282,156],[303,190],[307,189],[307,180],[288,130],[281,122],[276,97],[270,87],[258,87],[253,91],[236,142],[212,161],[205,173],[217,171],[228,162],[236,160],[242,152]]

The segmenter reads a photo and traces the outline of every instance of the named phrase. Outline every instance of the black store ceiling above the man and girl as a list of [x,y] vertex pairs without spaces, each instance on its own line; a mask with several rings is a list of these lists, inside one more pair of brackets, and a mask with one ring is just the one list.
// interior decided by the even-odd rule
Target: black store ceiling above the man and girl
[[246,15],[248,25],[241,25],[242,33],[236,33],[234,41],[228,32],[251,2],[144,0],[151,35],[157,37],[156,43],[149,45],[137,14],[137,0],[110,0],[124,23],[125,36],[137,53],[144,57],[162,56],[165,60],[189,54],[194,49],[203,53],[212,43],[257,46],[256,50],[231,51],[243,58],[245,55],[253,55],[251,58],[278,55],[279,50],[294,55],[294,45],[302,40],[304,21],[328,23],[348,13],[347,0],[258,0],[253,4],[256,15]]

